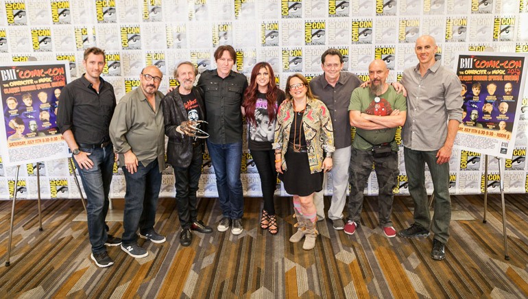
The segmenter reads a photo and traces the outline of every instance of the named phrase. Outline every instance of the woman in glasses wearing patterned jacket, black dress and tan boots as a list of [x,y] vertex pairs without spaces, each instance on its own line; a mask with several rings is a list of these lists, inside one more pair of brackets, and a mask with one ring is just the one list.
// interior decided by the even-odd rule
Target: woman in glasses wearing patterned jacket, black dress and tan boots
[[317,213],[313,193],[322,190],[324,172],[332,169],[335,151],[330,112],[311,93],[300,73],[288,77],[287,100],[280,105],[275,129],[275,167],[287,193],[293,195],[298,231],[289,239],[302,249],[315,247]]

